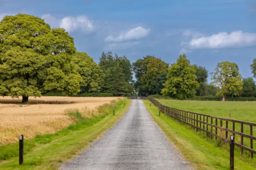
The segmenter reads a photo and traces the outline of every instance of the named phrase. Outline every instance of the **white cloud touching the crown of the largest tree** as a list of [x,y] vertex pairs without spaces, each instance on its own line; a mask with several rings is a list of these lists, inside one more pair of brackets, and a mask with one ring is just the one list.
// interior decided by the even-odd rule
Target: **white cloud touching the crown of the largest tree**
[[86,15],[56,19],[50,14],[45,14],[41,18],[45,19],[46,23],[49,23],[52,28],[64,28],[67,32],[72,32],[78,29],[82,30],[82,32],[92,32],[95,29],[93,21],[89,20]]

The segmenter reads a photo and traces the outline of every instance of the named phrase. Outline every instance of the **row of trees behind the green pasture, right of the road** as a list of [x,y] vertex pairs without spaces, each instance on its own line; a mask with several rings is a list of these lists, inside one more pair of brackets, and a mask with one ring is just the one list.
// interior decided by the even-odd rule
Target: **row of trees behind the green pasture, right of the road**
[[[256,84],[253,78],[242,80],[237,64],[221,62],[211,72],[212,82],[208,83],[208,70],[191,65],[185,54],[177,62],[167,64],[160,58],[146,56],[133,64],[137,81],[135,89],[139,95],[163,94],[173,98],[193,98],[194,96],[256,97]],[[256,60],[251,64],[256,77]]]

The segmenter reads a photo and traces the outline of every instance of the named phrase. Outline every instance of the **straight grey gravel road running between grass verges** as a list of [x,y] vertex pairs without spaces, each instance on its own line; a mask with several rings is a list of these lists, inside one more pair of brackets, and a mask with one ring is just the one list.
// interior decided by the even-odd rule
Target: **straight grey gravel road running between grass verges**
[[151,119],[143,101],[132,100],[115,126],[61,169],[186,170],[188,166]]

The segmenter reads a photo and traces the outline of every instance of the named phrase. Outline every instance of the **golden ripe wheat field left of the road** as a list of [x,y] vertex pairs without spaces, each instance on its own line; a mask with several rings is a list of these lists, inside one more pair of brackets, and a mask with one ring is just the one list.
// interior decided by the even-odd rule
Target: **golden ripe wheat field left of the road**
[[75,123],[75,120],[67,115],[69,110],[79,110],[82,116],[90,118],[92,112],[94,115],[97,114],[98,106],[117,98],[30,97],[29,102],[36,104],[27,105],[18,104],[21,99],[0,97],[0,146],[17,142],[21,134],[24,134],[24,138],[31,139],[36,134],[55,133]]

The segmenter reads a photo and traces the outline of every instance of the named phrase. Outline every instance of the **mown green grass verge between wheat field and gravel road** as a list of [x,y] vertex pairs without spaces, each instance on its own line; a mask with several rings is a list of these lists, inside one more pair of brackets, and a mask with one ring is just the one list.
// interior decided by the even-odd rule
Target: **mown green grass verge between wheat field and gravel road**
[[[100,106],[98,111],[104,114],[91,119],[81,118],[81,114],[76,112],[71,113],[70,116],[81,121],[55,134],[37,135],[32,140],[24,140],[22,166],[19,166],[18,143],[0,147],[0,169],[57,169],[58,163],[72,158],[112,127],[126,113],[130,102],[131,100],[125,98]],[[115,109],[115,116],[113,116],[113,109]]]

